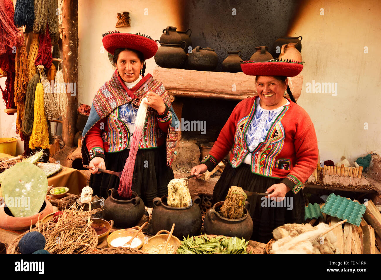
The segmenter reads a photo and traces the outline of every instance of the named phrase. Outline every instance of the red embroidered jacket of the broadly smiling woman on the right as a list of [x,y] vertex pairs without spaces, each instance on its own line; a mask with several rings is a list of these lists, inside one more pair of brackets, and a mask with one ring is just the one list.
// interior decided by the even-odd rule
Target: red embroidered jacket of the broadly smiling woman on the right
[[[250,152],[245,135],[258,106],[256,97],[247,98],[234,108],[210,153],[202,160],[209,171],[229,150],[232,167],[238,167]],[[302,107],[290,101],[272,123],[264,141],[253,150],[251,171],[284,178],[282,182],[296,194],[315,170],[317,157],[314,124]]]

